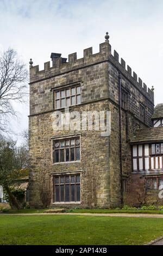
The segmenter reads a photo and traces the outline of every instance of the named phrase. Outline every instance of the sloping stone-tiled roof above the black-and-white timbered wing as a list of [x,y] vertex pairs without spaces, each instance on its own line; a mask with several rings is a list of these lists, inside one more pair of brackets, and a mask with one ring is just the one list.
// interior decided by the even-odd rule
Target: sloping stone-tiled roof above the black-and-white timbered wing
[[163,142],[163,126],[135,130],[131,144]]

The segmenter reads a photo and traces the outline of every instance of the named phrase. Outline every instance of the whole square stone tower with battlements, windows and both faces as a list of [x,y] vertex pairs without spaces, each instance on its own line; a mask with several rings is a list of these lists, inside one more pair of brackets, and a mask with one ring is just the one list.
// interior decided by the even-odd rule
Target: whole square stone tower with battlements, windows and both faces
[[[73,208],[120,206],[131,175],[130,139],[137,127],[151,127],[154,93],[116,51],[109,35],[92,47],[62,58],[52,53],[44,70],[30,61],[29,203]],[[56,111],[110,111],[111,134],[54,130]],[[120,121],[121,117],[121,121]],[[124,184],[125,185],[125,184]]]

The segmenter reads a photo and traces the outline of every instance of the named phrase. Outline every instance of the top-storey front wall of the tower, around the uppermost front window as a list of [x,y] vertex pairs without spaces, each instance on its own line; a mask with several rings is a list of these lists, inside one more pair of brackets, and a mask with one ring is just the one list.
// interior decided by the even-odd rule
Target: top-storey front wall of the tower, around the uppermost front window
[[67,72],[30,84],[30,115],[54,111],[53,88],[81,83],[82,103],[105,99],[108,96],[107,62]]

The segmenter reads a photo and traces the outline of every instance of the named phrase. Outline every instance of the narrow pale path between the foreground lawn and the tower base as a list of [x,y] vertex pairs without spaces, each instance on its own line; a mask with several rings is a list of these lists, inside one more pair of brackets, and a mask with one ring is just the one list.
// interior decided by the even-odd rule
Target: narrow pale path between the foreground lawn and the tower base
[[84,215],[84,216],[110,216],[110,217],[137,217],[137,218],[163,218],[162,214],[91,214],[89,212],[85,213],[75,213],[75,212],[61,212],[61,213],[34,213],[34,214],[0,214],[0,215],[22,215],[22,216],[32,216],[32,215]]

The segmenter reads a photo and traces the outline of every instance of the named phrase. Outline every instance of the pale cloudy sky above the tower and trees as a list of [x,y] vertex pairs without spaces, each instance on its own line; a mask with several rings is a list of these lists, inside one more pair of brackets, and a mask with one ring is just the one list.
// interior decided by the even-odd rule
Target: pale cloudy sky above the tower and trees
[[[92,46],[99,51],[105,32],[115,49],[149,88],[155,104],[163,102],[163,1],[162,0],[0,0],[0,48],[14,48],[29,66]],[[29,106],[20,112],[16,132],[28,127]]]

